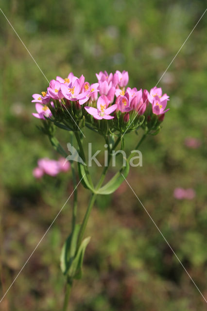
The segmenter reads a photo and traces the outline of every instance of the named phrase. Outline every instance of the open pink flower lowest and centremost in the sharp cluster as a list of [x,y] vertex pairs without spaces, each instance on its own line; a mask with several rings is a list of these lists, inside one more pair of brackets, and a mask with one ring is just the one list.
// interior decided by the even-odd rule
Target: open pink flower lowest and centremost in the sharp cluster
[[98,101],[97,101],[97,108],[93,108],[93,107],[88,107],[86,106],[85,109],[86,111],[92,115],[95,119],[98,120],[102,120],[102,119],[106,119],[106,120],[110,120],[113,119],[113,116],[110,116],[110,114],[112,112],[114,112],[117,109],[117,104],[114,104],[108,108],[106,108],[108,106],[108,99],[105,95],[102,95],[99,97]]

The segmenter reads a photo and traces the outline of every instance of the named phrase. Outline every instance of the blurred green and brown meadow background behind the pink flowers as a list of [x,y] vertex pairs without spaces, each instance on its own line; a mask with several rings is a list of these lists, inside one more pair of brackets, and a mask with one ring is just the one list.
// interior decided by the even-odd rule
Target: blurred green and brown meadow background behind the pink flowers
[[[128,70],[129,86],[159,80],[207,7],[204,0],[1,0],[1,9],[48,80],[70,71]],[[36,181],[43,156],[58,158],[35,125],[32,94],[47,81],[0,12],[0,279],[1,296],[72,191],[71,175]],[[158,86],[170,95],[162,131],[143,143],[143,167],[128,176],[139,199],[207,296],[207,16]],[[63,144],[68,134],[59,134]],[[187,137],[201,141],[189,149]],[[137,142],[125,136],[126,148]],[[87,142],[97,143],[86,132]],[[99,172],[97,172],[99,173]],[[109,172],[111,174],[112,171]],[[96,176],[94,176],[96,178]],[[176,200],[176,187],[193,200]],[[79,218],[89,193],[79,187]],[[56,311],[65,279],[59,253],[70,230],[71,200],[0,304],[2,311]],[[92,239],[73,311],[203,311],[206,303],[127,184],[99,197],[87,226]]]

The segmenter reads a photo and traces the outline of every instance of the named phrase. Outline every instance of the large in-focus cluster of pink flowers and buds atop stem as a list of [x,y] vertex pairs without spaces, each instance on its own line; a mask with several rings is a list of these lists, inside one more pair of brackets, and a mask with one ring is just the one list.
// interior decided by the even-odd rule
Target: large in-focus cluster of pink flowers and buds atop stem
[[[129,75],[125,70],[114,74],[101,71],[96,77],[98,82],[89,84],[83,75],[78,78],[72,72],[65,79],[57,76],[47,91],[33,95],[37,111],[33,115],[69,130],[84,125],[104,134],[108,128],[111,133],[128,133],[140,126],[157,130],[169,110],[169,96],[162,94],[160,87],[155,86],[150,92],[127,87]],[[97,122],[103,119],[112,121],[104,127]]]

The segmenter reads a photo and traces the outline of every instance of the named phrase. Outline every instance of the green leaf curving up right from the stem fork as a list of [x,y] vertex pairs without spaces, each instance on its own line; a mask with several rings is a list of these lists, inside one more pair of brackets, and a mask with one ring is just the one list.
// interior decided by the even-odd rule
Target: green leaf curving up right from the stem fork
[[[124,181],[123,176],[126,178],[129,173],[129,161],[126,159],[126,166],[123,166],[118,173],[112,177],[112,179],[105,184],[102,188],[97,190],[98,194],[110,194],[117,190]],[[123,176],[122,176],[123,174]]]

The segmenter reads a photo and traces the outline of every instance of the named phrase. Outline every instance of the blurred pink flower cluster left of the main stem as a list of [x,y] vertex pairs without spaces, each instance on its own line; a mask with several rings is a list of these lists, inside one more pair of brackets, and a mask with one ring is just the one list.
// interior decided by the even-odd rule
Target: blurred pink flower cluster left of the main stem
[[70,168],[69,161],[65,161],[63,157],[60,157],[57,161],[45,157],[39,159],[37,165],[33,170],[33,175],[37,179],[41,178],[44,174],[56,176],[60,172],[67,172]]

